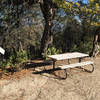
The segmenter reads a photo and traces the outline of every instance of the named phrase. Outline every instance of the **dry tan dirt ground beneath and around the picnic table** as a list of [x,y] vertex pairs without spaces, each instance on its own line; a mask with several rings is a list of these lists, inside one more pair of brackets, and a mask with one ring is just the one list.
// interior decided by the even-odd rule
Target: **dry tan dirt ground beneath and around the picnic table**
[[[88,60],[94,61],[93,73],[78,68],[68,69],[66,80],[43,71],[44,65],[49,70],[51,64],[33,61],[26,69],[0,78],[0,100],[100,100],[100,56]],[[62,63],[66,61],[57,65]],[[62,71],[56,74],[64,76]]]

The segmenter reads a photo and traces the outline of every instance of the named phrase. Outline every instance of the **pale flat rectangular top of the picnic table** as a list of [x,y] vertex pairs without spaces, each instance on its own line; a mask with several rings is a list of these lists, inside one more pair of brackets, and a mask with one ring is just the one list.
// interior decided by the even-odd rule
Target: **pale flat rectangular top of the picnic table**
[[64,59],[82,58],[82,57],[88,57],[88,56],[89,55],[85,53],[72,52],[72,53],[50,55],[48,57],[54,60],[64,60]]

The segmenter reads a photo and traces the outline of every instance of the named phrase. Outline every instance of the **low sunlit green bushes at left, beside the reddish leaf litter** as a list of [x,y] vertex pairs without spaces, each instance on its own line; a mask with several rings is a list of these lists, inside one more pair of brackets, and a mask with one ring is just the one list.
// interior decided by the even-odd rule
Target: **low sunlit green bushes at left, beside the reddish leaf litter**
[[17,51],[16,53],[12,52],[9,56],[9,59],[4,59],[0,62],[0,68],[5,70],[6,67],[14,67],[16,64],[20,64],[28,60],[27,51]]

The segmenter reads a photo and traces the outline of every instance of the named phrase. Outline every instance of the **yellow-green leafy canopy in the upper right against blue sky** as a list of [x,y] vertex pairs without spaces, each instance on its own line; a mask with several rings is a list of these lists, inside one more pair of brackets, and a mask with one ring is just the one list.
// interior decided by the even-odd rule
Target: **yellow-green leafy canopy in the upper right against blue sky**
[[73,12],[74,15],[84,13],[90,18],[92,17],[91,25],[100,26],[100,1],[88,0],[88,4],[83,4],[79,0],[53,0],[59,8],[65,9],[66,12]]

